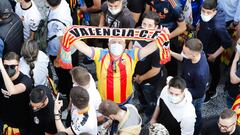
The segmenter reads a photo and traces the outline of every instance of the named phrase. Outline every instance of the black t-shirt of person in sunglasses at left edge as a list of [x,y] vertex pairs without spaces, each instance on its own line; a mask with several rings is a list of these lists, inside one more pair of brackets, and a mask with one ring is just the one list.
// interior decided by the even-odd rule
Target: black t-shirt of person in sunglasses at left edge
[[[2,76],[0,78],[0,88],[6,90]],[[27,128],[30,123],[29,94],[32,88],[32,80],[20,73],[18,78],[13,81],[14,85],[19,83],[26,86],[23,93],[7,97],[0,92],[0,119],[10,127],[21,129]]]

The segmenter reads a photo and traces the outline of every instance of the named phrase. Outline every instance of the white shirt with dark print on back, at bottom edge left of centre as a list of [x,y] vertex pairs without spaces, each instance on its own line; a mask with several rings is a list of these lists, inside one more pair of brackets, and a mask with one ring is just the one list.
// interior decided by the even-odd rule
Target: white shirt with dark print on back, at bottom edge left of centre
[[74,134],[79,135],[81,133],[89,133],[91,135],[97,135],[97,116],[96,111],[89,104],[89,110],[87,114],[79,114],[79,110],[72,105],[72,124],[71,129]]

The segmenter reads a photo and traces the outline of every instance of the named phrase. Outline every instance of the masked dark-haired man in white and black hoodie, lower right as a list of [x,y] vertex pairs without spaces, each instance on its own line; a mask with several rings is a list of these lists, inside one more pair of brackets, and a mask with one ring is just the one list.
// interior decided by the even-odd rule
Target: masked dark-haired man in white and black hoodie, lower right
[[193,135],[196,121],[192,95],[181,77],[172,78],[163,88],[150,124],[161,123],[170,135]]

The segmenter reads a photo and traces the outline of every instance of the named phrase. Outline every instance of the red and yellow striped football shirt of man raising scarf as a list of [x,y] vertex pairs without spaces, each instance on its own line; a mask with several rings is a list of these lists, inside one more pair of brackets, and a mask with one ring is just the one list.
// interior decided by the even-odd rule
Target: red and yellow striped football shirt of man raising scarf
[[98,89],[102,99],[116,103],[125,102],[133,91],[132,75],[139,60],[139,49],[125,50],[115,62],[108,49],[92,49],[92,59],[96,64]]

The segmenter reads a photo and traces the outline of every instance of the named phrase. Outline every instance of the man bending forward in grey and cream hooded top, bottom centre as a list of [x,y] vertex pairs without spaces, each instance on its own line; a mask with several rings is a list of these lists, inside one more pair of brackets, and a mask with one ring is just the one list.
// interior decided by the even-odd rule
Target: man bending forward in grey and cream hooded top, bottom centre
[[142,119],[135,106],[118,106],[111,100],[105,100],[100,104],[99,112],[110,119],[110,135],[139,135]]

